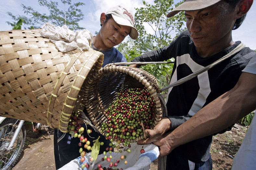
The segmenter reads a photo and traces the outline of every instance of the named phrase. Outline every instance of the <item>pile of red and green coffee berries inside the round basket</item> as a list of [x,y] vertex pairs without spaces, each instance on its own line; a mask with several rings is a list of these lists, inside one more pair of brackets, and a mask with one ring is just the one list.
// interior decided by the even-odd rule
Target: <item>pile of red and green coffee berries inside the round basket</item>
[[109,117],[102,123],[101,130],[106,132],[108,139],[120,138],[122,143],[135,140],[143,135],[143,128],[150,129],[155,110],[153,97],[145,87],[121,90],[106,110]]

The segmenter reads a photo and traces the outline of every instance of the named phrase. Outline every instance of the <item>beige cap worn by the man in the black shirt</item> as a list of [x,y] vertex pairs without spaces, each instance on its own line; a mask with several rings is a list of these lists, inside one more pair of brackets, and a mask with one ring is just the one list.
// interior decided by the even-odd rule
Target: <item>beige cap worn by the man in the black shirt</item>
[[167,14],[167,17],[172,17],[180,11],[194,11],[199,9],[208,8],[221,0],[184,0],[184,3],[174,8]]

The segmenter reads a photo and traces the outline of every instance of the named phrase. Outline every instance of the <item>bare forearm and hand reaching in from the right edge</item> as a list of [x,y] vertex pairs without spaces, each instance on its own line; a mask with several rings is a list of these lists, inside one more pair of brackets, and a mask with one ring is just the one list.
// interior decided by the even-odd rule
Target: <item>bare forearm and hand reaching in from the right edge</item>
[[160,155],[175,147],[223,130],[256,108],[256,74],[243,72],[233,89],[199,110],[191,119],[153,142]]

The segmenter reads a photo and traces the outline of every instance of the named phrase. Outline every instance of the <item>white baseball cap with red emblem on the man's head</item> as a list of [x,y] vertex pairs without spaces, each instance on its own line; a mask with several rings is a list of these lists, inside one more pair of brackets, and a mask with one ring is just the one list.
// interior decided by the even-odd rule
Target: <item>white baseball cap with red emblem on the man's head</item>
[[123,4],[113,6],[109,8],[106,14],[111,14],[113,19],[119,25],[131,27],[132,29],[131,32],[129,33],[129,36],[134,40],[137,39],[138,31],[136,28],[134,28],[134,17],[127,6],[124,6]]

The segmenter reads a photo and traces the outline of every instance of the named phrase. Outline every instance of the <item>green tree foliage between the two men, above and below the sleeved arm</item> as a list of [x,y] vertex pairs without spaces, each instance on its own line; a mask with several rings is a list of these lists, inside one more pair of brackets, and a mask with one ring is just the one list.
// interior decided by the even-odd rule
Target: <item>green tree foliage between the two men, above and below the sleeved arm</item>
[[[127,61],[131,61],[147,51],[167,46],[184,31],[184,21],[186,21],[184,12],[180,12],[171,18],[166,17],[174,7],[181,3],[182,1],[174,5],[173,0],[155,0],[154,4],[150,5],[143,1],[143,6],[136,8],[134,19],[139,36],[137,40],[128,39],[127,42],[122,42],[117,47],[124,54]],[[146,31],[146,25],[151,28],[151,31]],[[150,32],[153,32],[153,34]],[[160,87],[169,84],[173,64],[148,64],[141,68],[153,74],[157,78]]]

